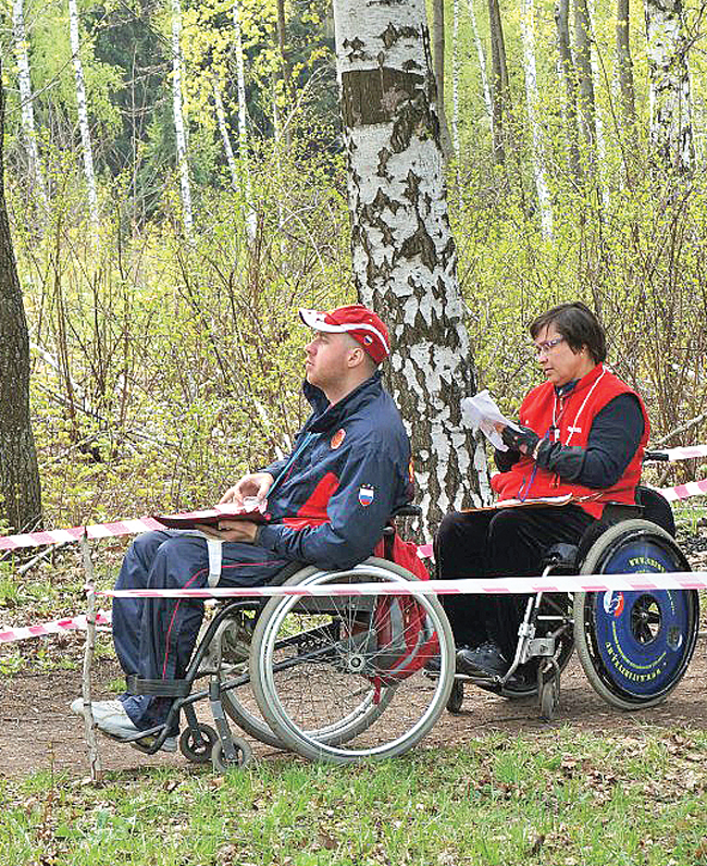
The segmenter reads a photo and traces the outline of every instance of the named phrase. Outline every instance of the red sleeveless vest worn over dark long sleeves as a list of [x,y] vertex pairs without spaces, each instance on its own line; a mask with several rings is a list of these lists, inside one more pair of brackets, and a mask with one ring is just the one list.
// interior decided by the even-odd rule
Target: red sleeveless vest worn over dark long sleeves
[[498,498],[537,499],[542,496],[572,493],[578,497],[591,497],[576,504],[596,518],[601,517],[608,502],[633,505],[636,485],[641,480],[643,451],[650,433],[648,416],[641,397],[604,364],[597,364],[583,376],[565,398],[556,396],[555,386],[550,382],[533,388],[521,405],[520,423],[534,430],[541,437],[549,431],[550,442],[586,446],[595,417],[620,394],[633,394],[638,398],[644,430],[636,453],[613,486],[597,491],[563,481],[554,472],[542,469],[528,455],[521,455],[510,471],[493,477],[491,483]]

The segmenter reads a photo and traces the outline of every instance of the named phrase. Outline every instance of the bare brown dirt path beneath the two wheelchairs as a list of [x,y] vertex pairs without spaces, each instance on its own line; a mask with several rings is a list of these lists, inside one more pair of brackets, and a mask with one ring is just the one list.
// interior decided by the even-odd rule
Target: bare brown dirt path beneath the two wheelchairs
[[[534,700],[511,702],[467,686],[461,714],[452,716],[445,712],[422,745],[459,745],[488,731],[512,735],[560,726],[624,734],[642,726],[707,729],[706,652],[707,640],[700,638],[687,673],[668,700],[653,709],[633,713],[621,713],[604,703],[575,658],[562,676],[560,707],[551,723],[539,718]],[[117,667],[101,663],[99,691],[101,682],[115,677]],[[83,720],[69,710],[69,704],[78,694],[78,671],[16,675],[0,682],[0,776],[17,777],[39,769],[67,772],[74,778],[88,774]],[[208,721],[208,709],[203,707],[201,712]],[[255,741],[252,745],[260,758],[280,754]],[[99,737],[99,746],[107,770],[139,772],[146,766],[187,766],[178,752],[144,755],[104,737]]]

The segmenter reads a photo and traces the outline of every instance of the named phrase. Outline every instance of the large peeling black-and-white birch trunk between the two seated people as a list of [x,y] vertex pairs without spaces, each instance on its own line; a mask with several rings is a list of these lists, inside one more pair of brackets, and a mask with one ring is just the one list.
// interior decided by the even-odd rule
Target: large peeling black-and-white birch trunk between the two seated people
[[[334,0],[352,265],[361,300],[390,327],[393,396],[406,419],[427,528],[477,500],[475,391],[449,228],[424,0]],[[481,473],[486,472],[480,459]]]

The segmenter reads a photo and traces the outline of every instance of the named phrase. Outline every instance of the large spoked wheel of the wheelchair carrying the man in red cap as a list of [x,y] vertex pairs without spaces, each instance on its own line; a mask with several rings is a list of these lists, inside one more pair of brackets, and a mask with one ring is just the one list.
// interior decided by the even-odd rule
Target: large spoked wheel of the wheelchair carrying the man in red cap
[[[347,571],[307,569],[288,583],[414,580],[370,558]],[[435,678],[424,671],[432,658],[439,659]],[[434,596],[272,598],[253,631],[250,667],[263,717],[295,752],[338,764],[393,757],[421,740],[444,710],[454,639]]]

